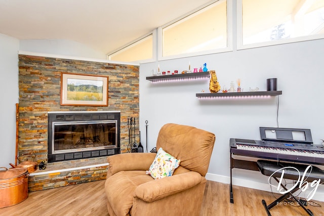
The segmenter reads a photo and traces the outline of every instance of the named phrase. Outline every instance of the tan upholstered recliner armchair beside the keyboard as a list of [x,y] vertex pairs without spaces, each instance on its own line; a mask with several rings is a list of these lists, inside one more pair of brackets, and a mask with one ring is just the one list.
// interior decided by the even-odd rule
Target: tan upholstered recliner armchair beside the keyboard
[[199,215],[215,135],[192,126],[165,124],[160,147],[180,159],[173,176],[154,180],[145,174],[156,153],[126,153],[108,157],[105,192],[110,216]]

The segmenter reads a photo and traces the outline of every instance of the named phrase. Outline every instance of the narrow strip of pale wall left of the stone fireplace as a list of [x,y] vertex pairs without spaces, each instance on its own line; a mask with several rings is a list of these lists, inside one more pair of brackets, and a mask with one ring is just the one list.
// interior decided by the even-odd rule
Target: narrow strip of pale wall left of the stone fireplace
[[0,167],[15,163],[19,40],[0,34]]

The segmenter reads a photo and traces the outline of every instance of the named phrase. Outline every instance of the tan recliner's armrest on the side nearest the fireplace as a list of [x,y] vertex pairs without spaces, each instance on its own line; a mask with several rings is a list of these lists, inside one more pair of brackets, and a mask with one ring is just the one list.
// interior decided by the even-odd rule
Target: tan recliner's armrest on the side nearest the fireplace
[[152,164],[156,153],[125,153],[115,154],[107,158],[108,176],[119,171],[147,170]]

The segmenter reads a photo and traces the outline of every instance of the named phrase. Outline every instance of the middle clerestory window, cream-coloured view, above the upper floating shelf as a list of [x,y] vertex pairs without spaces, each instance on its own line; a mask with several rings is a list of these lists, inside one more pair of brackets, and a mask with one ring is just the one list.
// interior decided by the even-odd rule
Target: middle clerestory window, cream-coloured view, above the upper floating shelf
[[228,7],[226,0],[219,0],[160,27],[159,60],[230,49],[228,23],[231,22],[227,18],[231,16],[228,15]]

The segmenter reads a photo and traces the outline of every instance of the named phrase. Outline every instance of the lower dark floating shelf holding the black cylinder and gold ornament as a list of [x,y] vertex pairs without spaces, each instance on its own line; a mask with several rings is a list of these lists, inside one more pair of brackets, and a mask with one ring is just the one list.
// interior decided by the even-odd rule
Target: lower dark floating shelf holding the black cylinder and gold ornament
[[197,93],[197,98],[221,98],[221,97],[262,97],[282,95],[282,91],[266,92],[228,92],[228,93]]

